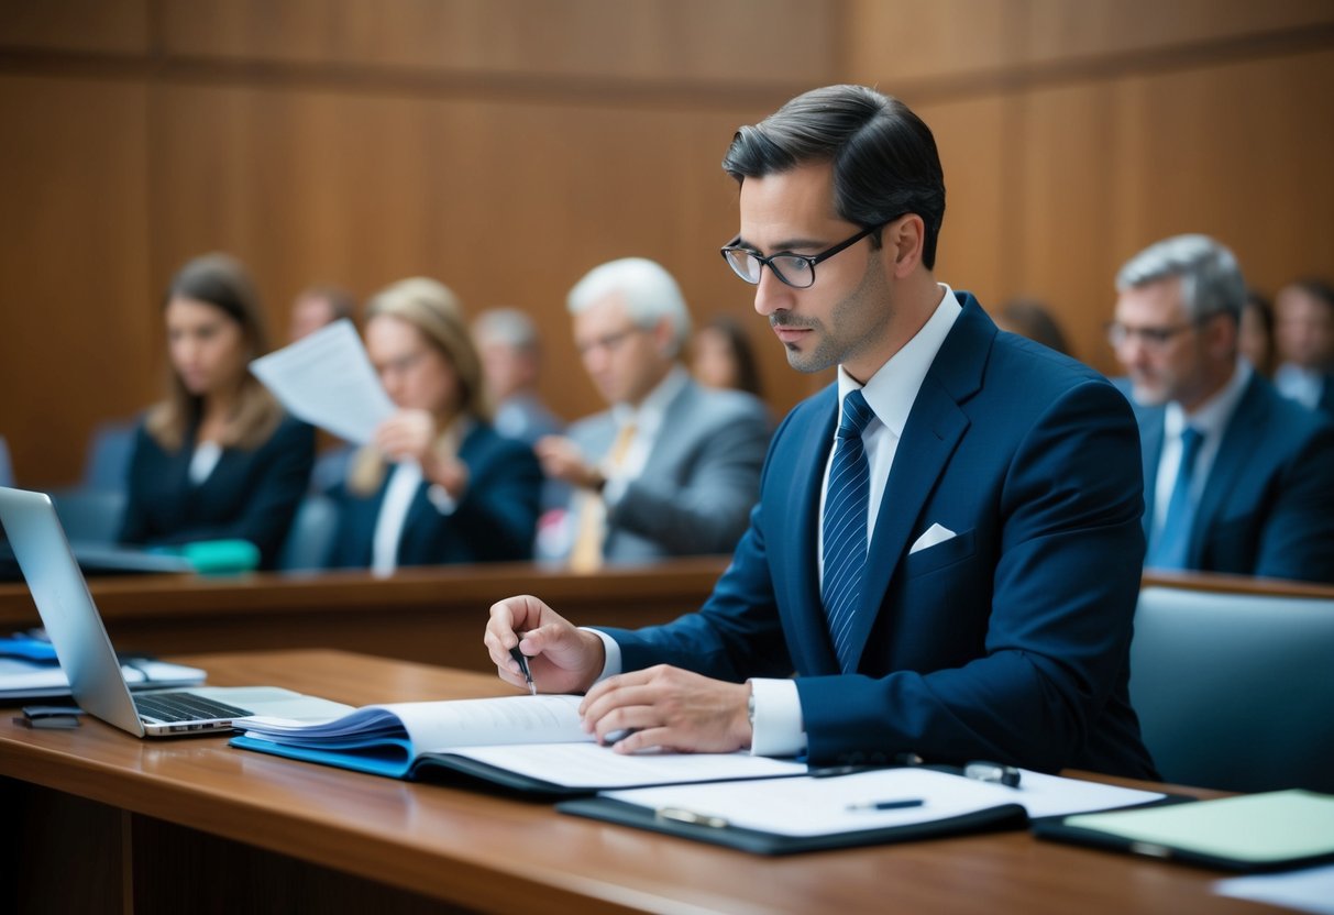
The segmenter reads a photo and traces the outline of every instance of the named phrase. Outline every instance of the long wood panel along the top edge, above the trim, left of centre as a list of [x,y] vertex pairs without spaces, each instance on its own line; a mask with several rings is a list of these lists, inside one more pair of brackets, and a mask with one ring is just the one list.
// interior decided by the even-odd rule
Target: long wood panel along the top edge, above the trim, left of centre
[[795,84],[834,71],[836,12],[802,0],[163,0],[163,25],[169,53],[205,57]]

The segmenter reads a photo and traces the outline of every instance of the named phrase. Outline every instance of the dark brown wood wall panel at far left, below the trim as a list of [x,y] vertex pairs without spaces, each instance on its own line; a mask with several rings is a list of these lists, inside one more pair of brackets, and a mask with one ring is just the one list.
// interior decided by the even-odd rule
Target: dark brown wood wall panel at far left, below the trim
[[145,96],[0,77],[0,435],[20,483],[59,483],[149,384]]

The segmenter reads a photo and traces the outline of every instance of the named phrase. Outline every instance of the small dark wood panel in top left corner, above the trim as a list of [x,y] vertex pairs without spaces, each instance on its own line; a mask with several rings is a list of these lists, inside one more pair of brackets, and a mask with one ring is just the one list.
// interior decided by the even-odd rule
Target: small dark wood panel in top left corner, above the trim
[[0,0],[0,47],[141,53],[149,0]]

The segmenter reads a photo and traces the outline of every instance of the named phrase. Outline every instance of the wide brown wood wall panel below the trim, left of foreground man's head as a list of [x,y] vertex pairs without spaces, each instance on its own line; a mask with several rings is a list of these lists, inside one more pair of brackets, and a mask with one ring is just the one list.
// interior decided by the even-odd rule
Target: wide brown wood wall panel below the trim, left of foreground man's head
[[[595,264],[630,255],[672,271],[696,315],[748,308],[750,289],[716,251],[736,225],[719,160],[756,112],[271,88],[171,87],[156,97],[155,275],[227,249],[255,271],[277,329],[309,283],[367,296],[428,275],[471,313],[531,309],[551,361],[576,365],[564,295]],[[562,413],[599,408],[582,371],[558,371]],[[806,389],[771,375],[788,401]]]

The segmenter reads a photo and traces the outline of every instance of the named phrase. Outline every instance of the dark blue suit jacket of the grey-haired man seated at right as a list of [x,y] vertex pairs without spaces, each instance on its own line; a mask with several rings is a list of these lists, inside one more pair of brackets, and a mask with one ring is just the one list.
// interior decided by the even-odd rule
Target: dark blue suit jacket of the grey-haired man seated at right
[[[1135,405],[1147,510],[1163,445],[1163,407]],[[1195,510],[1186,562],[1205,572],[1334,582],[1334,427],[1251,376],[1227,421]]]

